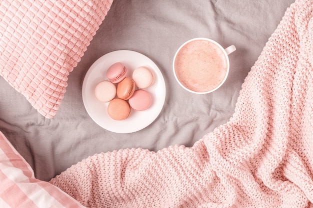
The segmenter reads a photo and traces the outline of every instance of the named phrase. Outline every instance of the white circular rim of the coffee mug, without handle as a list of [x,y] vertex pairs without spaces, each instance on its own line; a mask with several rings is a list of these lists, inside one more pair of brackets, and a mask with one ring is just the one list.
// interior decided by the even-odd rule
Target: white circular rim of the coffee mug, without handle
[[[178,79],[177,75],[176,75],[176,72],[175,72],[175,60],[176,60],[176,56],[177,54],[179,53],[179,51],[181,50],[181,48],[183,46],[185,46],[186,44],[188,44],[189,42],[192,42],[192,41],[195,41],[195,40],[206,40],[206,41],[209,41],[209,42],[212,42],[214,43],[215,45],[217,45],[221,50],[222,52],[224,53],[225,55],[225,58],[226,58],[226,62],[227,62],[227,70],[226,70],[226,74],[223,78],[223,80],[213,89],[209,90],[209,91],[204,91],[204,92],[197,92],[197,91],[193,91],[193,90],[190,90],[188,89],[187,87],[185,87]],[[217,90],[221,85],[223,85],[223,83],[226,81],[227,79],[227,76],[228,76],[228,72],[229,72],[229,58],[228,58],[228,54],[226,53],[225,49],[218,43],[216,42],[215,40],[212,40],[212,39],[209,39],[209,38],[206,38],[206,37],[196,37],[196,38],[192,38],[192,39],[189,39],[187,41],[185,41],[184,43],[182,43],[179,48],[176,50],[175,52],[175,55],[173,57],[173,62],[172,62],[172,68],[173,68],[173,74],[174,74],[174,77],[176,79],[176,81],[178,82],[178,84],[185,90],[191,92],[191,93],[195,93],[195,94],[207,94],[207,93],[211,93],[215,90]]]

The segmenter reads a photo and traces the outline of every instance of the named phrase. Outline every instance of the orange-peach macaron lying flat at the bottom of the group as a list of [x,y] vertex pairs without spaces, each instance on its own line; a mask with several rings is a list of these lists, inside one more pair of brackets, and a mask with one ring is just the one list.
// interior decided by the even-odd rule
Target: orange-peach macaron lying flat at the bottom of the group
[[129,116],[130,107],[127,101],[115,98],[107,105],[107,114],[114,120],[121,121]]

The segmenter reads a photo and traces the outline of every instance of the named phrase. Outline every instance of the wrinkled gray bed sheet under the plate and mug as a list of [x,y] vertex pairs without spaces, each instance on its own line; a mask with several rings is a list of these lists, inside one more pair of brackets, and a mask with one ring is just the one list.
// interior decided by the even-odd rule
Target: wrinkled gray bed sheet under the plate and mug
[[[294,0],[114,0],[84,56],[68,76],[60,109],[46,119],[0,78],[0,131],[48,181],[88,156],[125,148],[158,151],[171,145],[190,147],[234,112],[241,84],[286,8]],[[225,83],[210,94],[182,89],[172,72],[177,48],[195,37],[211,38],[229,55]],[[91,64],[115,50],[148,56],[166,85],[164,106],[146,128],[127,134],[99,127],[86,112],[81,88]]]

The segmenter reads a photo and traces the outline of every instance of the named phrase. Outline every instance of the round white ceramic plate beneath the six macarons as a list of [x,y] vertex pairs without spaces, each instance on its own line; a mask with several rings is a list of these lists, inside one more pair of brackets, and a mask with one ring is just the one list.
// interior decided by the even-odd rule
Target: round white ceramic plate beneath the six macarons
[[[139,66],[148,67],[154,73],[153,84],[144,89],[152,96],[151,106],[144,111],[131,109],[129,117],[122,121],[111,119],[106,112],[108,103],[98,101],[94,95],[96,84],[108,80],[106,70],[115,62],[121,62],[127,67],[128,77],[131,77],[133,70]],[[130,50],[117,50],[98,58],[88,69],[82,83],[82,101],[87,113],[99,126],[115,133],[136,132],[151,124],[163,108],[165,94],[164,78],[156,64],[145,55]]]

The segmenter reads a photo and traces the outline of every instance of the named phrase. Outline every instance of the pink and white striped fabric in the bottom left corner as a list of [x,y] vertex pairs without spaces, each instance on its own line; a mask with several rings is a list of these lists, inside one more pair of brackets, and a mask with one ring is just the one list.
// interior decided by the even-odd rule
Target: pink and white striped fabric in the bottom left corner
[[29,164],[0,132],[0,208],[84,208],[59,188],[35,179]]

